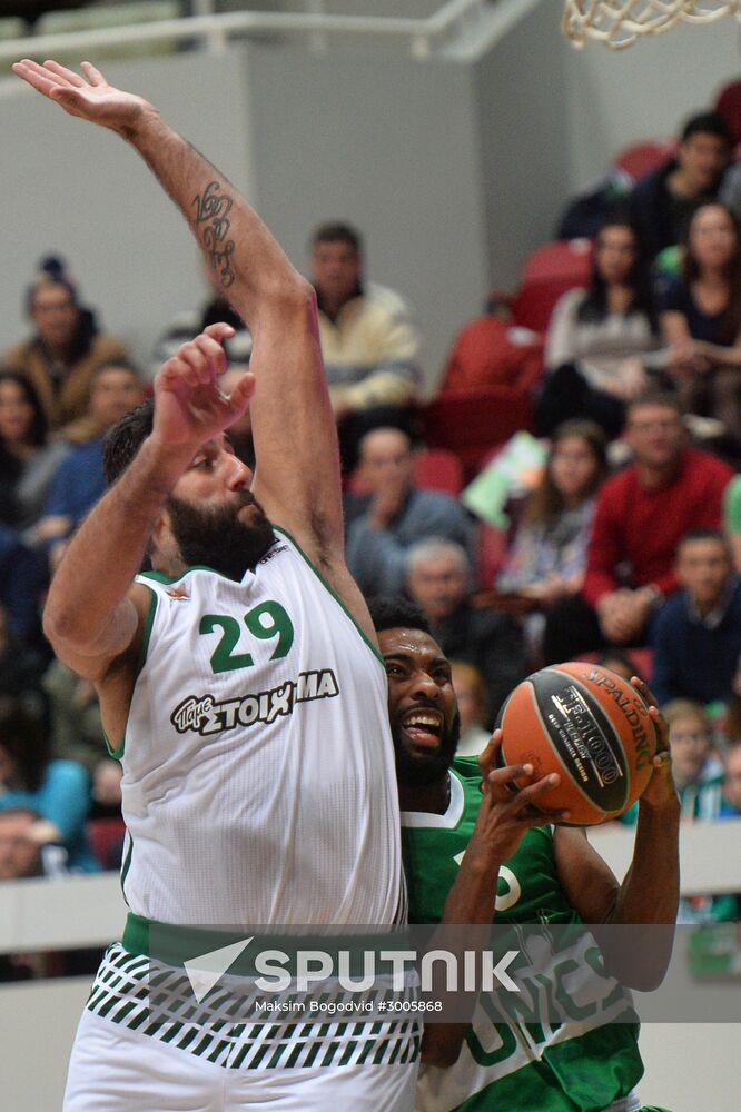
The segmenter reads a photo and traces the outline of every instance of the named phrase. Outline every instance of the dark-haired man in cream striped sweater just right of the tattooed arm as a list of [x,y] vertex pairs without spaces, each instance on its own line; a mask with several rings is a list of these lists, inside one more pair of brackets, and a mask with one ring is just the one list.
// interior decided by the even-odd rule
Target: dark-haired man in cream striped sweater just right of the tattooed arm
[[392,289],[367,281],[359,232],[327,224],[312,238],[312,281],[343,467],[350,471],[372,428],[411,431],[419,335]]

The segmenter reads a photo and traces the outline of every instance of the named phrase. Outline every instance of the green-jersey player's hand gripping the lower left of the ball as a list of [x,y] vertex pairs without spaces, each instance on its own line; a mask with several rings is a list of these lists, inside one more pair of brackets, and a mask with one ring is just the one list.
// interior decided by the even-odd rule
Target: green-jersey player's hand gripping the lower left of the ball
[[565,822],[569,818],[567,811],[546,814],[537,810],[541,796],[559,784],[559,774],[551,773],[517,788],[515,782],[530,780],[533,766],[517,764],[494,767],[501,745],[502,731],[497,729],[480,761],[480,765],[493,771],[487,772],[476,826],[466,850],[466,856],[472,855],[473,860],[481,860],[490,865],[501,865],[512,857],[531,827]]

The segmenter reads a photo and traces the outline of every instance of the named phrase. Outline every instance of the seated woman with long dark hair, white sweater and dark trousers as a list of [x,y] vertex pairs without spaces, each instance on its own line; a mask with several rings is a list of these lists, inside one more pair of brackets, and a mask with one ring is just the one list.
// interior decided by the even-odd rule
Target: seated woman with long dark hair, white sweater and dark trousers
[[612,217],[596,237],[589,289],[567,290],[553,310],[539,433],[550,436],[569,417],[590,417],[618,436],[625,403],[649,386],[642,357],[659,346],[658,331],[638,232]]

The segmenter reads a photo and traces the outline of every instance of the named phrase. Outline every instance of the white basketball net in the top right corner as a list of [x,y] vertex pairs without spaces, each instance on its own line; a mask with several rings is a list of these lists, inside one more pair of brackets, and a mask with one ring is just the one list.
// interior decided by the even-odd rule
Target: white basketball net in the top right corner
[[562,29],[575,47],[590,38],[622,50],[676,23],[710,23],[721,16],[741,20],[741,0],[565,0]]

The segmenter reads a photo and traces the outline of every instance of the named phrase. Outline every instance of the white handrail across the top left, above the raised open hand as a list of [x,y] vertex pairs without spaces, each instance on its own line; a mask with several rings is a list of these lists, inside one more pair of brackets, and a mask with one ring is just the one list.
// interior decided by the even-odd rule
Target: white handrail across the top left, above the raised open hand
[[[408,39],[417,57],[429,52],[457,23],[483,10],[485,0],[448,0],[424,19],[377,16],[332,16],[320,12],[223,12],[184,16],[151,23],[131,23],[58,34],[37,34],[0,42],[0,61],[49,57],[55,53],[95,53],[97,47],[129,46],[164,39],[182,42],[202,40],[211,49],[223,49],[234,36],[255,32],[386,36]],[[423,47],[421,48],[421,44]]]

